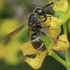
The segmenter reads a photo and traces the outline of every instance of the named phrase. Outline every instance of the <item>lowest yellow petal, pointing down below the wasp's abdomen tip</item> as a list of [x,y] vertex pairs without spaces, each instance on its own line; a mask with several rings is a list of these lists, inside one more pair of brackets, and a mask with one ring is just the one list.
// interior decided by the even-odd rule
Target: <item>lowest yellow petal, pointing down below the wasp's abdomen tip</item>
[[43,63],[46,53],[42,52],[40,55],[37,55],[35,58],[27,58],[25,61],[33,68],[39,69]]

